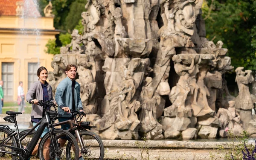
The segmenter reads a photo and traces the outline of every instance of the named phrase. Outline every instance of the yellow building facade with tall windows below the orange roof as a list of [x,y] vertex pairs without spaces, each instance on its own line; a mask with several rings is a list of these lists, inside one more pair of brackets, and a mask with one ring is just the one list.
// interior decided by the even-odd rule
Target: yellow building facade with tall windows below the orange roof
[[49,39],[59,34],[53,17],[22,18],[0,15],[0,79],[4,81],[4,101],[16,101],[19,81],[25,94],[38,81],[37,69],[52,71],[53,55],[45,53]]

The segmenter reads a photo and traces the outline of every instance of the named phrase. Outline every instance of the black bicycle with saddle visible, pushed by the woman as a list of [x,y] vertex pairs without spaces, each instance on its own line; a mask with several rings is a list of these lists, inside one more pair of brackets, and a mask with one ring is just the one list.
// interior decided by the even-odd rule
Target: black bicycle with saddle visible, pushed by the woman
[[[38,140],[41,137],[41,134],[44,131],[44,128],[47,127],[49,129],[49,132],[44,135],[39,143],[38,155],[40,160],[55,160],[55,158],[78,160],[79,146],[76,138],[68,131],[56,129],[53,127],[53,122],[56,119],[57,111],[56,108],[55,112],[50,110],[50,107],[54,106],[54,104],[50,103],[49,101],[39,101],[38,105],[43,107],[43,112],[45,113],[45,116],[32,129],[26,131],[26,133],[23,133],[22,135],[19,133],[16,120],[16,116],[22,113],[6,111],[6,114],[8,114],[9,116],[6,116],[4,120],[6,122],[14,123],[16,131],[10,129],[8,125],[0,125],[0,159],[10,159],[10,157],[12,160],[16,160],[16,158],[20,160],[29,159],[29,157],[31,157],[32,151],[34,150]],[[53,113],[55,113],[55,116],[52,116],[54,115]],[[33,130],[38,127],[38,125],[40,125],[38,130],[36,132],[33,132]],[[30,133],[34,133],[31,141],[27,144],[27,146],[23,146],[21,143],[22,140],[24,140],[26,136],[28,136]],[[60,147],[58,139],[61,136],[68,137],[68,149]],[[71,148],[73,148],[74,153],[71,151]]]

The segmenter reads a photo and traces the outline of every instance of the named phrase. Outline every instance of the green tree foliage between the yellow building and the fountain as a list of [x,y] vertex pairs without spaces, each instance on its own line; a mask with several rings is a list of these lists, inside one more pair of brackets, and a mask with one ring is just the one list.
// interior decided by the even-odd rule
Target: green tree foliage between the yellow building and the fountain
[[[44,8],[48,3],[48,0],[39,1],[41,15],[44,15]],[[87,0],[52,0],[52,13],[55,15],[54,27],[64,30],[66,33],[56,36],[55,40],[49,40],[45,52],[53,55],[60,54],[60,47],[70,44],[73,29],[78,29],[79,34],[82,34],[81,13],[86,11],[84,8],[86,3]]]

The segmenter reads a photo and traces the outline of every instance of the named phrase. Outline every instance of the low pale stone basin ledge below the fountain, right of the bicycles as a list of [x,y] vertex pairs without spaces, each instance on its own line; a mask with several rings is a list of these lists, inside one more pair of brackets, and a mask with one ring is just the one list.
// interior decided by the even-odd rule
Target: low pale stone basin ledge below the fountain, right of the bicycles
[[[143,160],[147,159],[145,151],[135,144],[143,144],[144,141],[136,140],[102,140],[105,147],[106,159]],[[238,143],[236,143],[238,144]],[[211,160],[210,155],[215,154],[219,160],[223,160],[214,148],[222,145],[225,149],[230,147],[226,142],[190,142],[190,141],[154,141],[148,140],[149,160]]]

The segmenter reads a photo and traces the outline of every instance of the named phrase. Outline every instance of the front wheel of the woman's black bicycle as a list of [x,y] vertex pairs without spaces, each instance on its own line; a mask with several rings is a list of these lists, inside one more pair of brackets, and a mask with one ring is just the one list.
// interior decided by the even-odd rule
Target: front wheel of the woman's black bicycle
[[[72,149],[67,149],[67,146],[72,146]],[[71,133],[54,129],[52,138],[47,133],[41,140],[38,154],[40,160],[78,160],[79,146]]]

